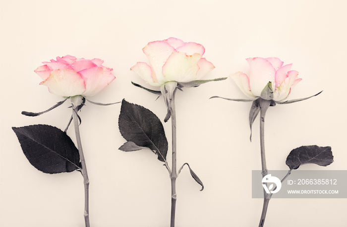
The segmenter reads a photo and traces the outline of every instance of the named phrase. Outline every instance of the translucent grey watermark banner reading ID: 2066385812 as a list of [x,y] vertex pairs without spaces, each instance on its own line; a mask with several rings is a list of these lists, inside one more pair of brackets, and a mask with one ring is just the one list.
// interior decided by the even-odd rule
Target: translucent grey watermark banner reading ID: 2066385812
[[347,170],[292,170],[281,182],[287,174],[252,170],[252,198],[347,198]]

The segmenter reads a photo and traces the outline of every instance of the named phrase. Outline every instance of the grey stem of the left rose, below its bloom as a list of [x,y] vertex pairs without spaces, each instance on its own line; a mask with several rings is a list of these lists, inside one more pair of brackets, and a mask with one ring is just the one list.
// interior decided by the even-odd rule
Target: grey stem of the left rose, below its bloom
[[84,154],[82,150],[81,136],[79,134],[77,107],[73,108],[72,110],[72,118],[73,118],[73,123],[75,126],[75,134],[76,134],[79,157],[81,159],[81,164],[82,164],[81,173],[83,176],[83,183],[84,183],[84,221],[85,221],[86,227],[90,227],[90,224],[89,224],[89,179],[88,179],[86,161],[84,160]]

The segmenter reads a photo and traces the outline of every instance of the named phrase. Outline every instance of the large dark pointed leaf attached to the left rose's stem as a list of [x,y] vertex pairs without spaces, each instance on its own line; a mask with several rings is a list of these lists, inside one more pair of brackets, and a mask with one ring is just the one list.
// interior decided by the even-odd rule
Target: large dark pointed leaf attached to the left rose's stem
[[47,173],[68,173],[81,169],[78,149],[71,138],[50,125],[12,127],[24,155],[36,169]]

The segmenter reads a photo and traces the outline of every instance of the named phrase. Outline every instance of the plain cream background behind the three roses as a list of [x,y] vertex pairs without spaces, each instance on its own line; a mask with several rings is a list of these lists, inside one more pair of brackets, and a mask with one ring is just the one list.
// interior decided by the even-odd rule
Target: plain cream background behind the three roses
[[[293,63],[302,81],[289,99],[319,96],[271,107],[266,116],[268,169],[287,170],[289,151],[301,145],[332,146],[334,163],[302,170],[346,170],[346,7],[344,0],[1,0],[0,226],[83,227],[83,179],[78,172],[49,175],[25,158],[11,127],[49,124],[64,129],[68,102],[39,86],[42,61],[66,54],[104,59],[116,80],[93,101],[125,98],[164,119],[162,98],[131,85],[146,84],[129,71],[146,61],[142,48],[176,37],[204,45],[216,68],[205,79],[247,72],[248,57],[279,57]],[[188,162],[205,189],[183,169],[177,179],[176,227],[254,227],[262,199],[251,198],[251,170],[259,170],[259,118],[249,141],[251,103],[209,99],[245,98],[229,78],[176,95],[177,164]],[[150,151],[118,150],[120,104],[87,104],[80,116],[90,179],[92,227],[166,227],[170,180]],[[171,123],[164,123],[171,143]],[[74,139],[73,128],[67,134]],[[171,146],[169,147],[169,152]],[[168,155],[170,157],[170,155]],[[168,158],[169,163],[171,159]],[[346,227],[346,199],[273,199],[265,226]]]

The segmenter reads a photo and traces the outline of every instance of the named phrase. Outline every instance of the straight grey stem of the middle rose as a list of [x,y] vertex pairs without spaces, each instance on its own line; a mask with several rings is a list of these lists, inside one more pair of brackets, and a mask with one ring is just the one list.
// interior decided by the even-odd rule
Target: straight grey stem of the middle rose
[[174,227],[174,217],[175,217],[175,210],[176,210],[176,111],[175,111],[175,104],[174,104],[174,96],[175,96],[176,90],[173,91],[173,99],[171,101],[171,127],[172,127],[172,172],[170,175],[171,179],[171,227]]

